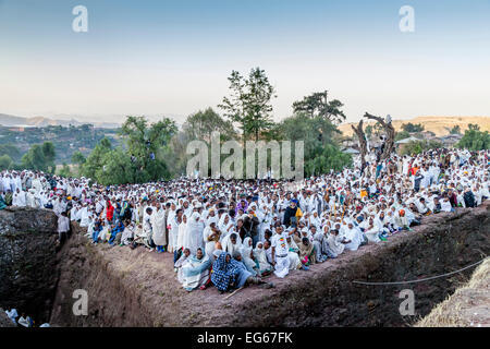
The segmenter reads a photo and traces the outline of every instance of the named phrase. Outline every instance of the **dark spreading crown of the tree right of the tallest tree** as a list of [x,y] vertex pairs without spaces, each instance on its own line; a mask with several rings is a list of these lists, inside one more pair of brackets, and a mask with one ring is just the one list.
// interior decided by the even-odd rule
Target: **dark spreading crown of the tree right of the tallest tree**
[[321,117],[330,120],[332,123],[345,121],[345,115],[341,110],[344,105],[339,99],[328,100],[328,91],[313,93],[303,98],[303,100],[293,104],[295,113],[305,113],[309,118]]

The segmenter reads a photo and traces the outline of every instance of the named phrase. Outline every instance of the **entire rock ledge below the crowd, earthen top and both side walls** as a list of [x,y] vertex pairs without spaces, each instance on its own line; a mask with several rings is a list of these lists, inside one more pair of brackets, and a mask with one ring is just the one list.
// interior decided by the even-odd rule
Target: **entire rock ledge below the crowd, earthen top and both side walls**
[[[414,231],[347,252],[336,260],[271,277],[273,289],[249,287],[233,298],[215,288],[185,292],[169,254],[91,245],[76,225],[63,248],[51,322],[62,326],[408,326],[473,273],[400,286],[359,281],[414,280],[453,272],[490,253],[490,203],[428,217]],[[89,294],[88,315],[74,316],[75,289]],[[415,315],[402,316],[402,289]]]

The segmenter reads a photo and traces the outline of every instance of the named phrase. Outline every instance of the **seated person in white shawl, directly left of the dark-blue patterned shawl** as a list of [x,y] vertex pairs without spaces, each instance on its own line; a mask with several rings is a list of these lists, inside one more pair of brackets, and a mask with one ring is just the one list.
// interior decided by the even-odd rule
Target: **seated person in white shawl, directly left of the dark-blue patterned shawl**
[[187,258],[182,267],[182,286],[188,292],[196,288],[205,288],[209,280],[209,269],[211,268],[211,260],[203,253],[203,249],[197,249],[196,255]]

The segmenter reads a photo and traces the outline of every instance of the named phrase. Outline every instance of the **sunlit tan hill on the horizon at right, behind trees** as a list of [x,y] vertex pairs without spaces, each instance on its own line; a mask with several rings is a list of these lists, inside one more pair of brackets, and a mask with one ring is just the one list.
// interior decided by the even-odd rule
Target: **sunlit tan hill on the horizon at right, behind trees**
[[[373,124],[375,122],[365,122],[365,128],[368,124]],[[449,130],[455,125],[460,125],[461,131],[464,133],[468,129],[469,123],[477,123],[480,125],[481,131],[490,131],[490,117],[417,117],[408,120],[393,120],[393,127],[396,131],[402,130],[402,124],[404,123],[421,123],[425,131],[431,131],[436,133],[437,136],[449,134]],[[344,135],[351,136],[354,131],[351,125],[356,125],[357,122],[343,123],[339,127]]]

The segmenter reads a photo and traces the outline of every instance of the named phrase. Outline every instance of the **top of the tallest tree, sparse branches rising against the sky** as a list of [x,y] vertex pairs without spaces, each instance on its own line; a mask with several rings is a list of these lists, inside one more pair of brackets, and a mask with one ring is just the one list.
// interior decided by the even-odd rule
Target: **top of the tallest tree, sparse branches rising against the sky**
[[244,144],[249,135],[258,141],[261,132],[273,127],[271,99],[277,97],[274,87],[260,68],[252,69],[248,79],[232,71],[228,80],[230,96],[223,97],[218,107],[231,122],[238,124]]

